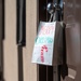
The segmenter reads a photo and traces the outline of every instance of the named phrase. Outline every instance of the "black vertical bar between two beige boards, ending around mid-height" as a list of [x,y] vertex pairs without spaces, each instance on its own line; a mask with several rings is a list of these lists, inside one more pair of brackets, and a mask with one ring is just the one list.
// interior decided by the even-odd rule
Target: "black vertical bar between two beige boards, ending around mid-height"
[[26,1],[17,0],[17,44],[26,45]]

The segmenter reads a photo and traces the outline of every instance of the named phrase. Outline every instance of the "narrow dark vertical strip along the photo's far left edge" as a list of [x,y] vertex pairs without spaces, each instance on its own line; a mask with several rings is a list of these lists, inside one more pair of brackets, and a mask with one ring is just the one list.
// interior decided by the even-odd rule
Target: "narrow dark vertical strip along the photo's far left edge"
[[0,0],[0,81],[3,79],[4,0]]

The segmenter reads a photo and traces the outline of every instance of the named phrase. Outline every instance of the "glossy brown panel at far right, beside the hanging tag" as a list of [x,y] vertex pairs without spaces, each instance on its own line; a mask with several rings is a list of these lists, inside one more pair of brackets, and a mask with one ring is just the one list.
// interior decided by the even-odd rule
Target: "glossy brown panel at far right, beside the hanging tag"
[[[67,64],[75,67],[75,79],[65,81],[81,81],[81,0],[65,0],[64,19],[66,23]],[[75,72],[72,72],[75,73]]]

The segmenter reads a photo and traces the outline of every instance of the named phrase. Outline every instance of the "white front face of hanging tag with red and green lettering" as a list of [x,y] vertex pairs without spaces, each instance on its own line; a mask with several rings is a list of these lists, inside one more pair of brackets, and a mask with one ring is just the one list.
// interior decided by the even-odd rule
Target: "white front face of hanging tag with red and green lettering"
[[56,22],[40,22],[32,52],[32,63],[52,65]]

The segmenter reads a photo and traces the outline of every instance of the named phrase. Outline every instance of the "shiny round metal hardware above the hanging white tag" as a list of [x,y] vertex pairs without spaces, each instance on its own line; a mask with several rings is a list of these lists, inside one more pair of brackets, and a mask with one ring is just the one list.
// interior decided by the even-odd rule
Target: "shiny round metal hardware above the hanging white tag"
[[54,1],[53,3],[49,3],[46,6],[46,11],[50,14],[55,13],[55,21],[62,21],[63,19],[63,0],[60,1]]

